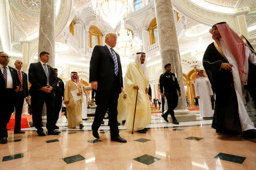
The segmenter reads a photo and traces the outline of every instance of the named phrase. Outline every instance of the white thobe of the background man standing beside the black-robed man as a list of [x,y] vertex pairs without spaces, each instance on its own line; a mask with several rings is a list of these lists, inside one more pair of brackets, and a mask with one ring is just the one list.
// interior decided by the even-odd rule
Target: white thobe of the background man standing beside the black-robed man
[[195,80],[196,96],[199,96],[199,108],[201,117],[213,117],[212,115],[212,102],[210,95],[213,95],[210,81],[204,76],[200,76]]

